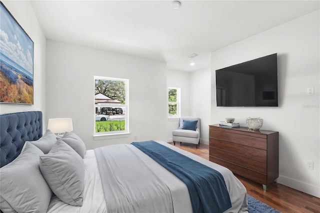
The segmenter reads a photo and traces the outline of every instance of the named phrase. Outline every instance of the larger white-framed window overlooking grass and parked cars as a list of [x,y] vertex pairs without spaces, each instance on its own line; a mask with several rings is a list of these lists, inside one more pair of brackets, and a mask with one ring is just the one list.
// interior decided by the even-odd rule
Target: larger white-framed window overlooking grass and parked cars
[[128,79],[94,76],[94,135],[129,133]]

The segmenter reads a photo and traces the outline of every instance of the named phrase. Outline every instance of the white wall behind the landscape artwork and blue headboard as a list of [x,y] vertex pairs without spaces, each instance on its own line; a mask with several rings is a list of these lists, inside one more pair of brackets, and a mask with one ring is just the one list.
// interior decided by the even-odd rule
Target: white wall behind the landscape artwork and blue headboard
[[[2,1],[33,41],[33,105],[0,103],[0,113],[42,111],[45,114],[45,37],[29,1]],[[46,126],[43,126],[45,130]]]

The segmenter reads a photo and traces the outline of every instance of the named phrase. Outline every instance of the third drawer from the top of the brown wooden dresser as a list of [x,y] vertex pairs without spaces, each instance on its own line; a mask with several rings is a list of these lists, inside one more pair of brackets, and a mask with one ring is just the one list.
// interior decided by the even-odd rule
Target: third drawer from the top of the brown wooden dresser
[[[215,158],[227,161],[229,163],[233,163],[234,165],[248,168],[250,170],[266,174],[266,158],[264,158],[264,162],[250,159],[248,157],[234,154],[232,152],[228,152],[226,150],[217,149],[214,147],[209,147],[209,153],[211,156]],[[265,154],[266,155],[266,154]]]

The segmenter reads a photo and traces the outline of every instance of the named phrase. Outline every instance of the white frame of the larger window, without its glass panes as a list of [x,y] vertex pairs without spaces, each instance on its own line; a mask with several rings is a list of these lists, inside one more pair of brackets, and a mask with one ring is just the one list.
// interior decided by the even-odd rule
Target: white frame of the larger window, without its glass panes
[[[95,95],[95,79],[102,80],[119,80],[124,81],[125,85],[125,104],[121,103],[95,103],[94,95]],[[118,131],[103,131],[103,132],[95,132],[95,108],[96,107],[121,107],[124,108],[124,130]],[[108,135],[121,135],[121,134],[129,134],[129,80],[123,78],[114,78],[114,77],[104,77],[104,76],[94,76],[93,78],[93,137],[95,136],[108,136]]]

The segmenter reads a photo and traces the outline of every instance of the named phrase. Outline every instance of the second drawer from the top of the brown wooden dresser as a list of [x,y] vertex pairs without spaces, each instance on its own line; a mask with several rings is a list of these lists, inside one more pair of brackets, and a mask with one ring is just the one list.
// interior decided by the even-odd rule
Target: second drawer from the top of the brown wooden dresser
[[[254,148],[247,145],[235,144],[233,142],[209,138],[210,148],[218,148],[242,155],[252,160],[257,160],[266,163],[266,150]],[[209,151],[211,153],[211,150]]]

